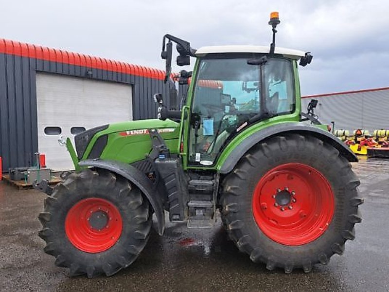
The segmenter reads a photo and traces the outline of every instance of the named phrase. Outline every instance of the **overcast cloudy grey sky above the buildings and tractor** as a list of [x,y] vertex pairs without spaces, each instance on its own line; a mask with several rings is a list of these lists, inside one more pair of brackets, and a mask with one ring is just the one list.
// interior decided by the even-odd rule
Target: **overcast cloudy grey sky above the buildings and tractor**
[[166,33],[192,47],[277,45],[312,52],[303,95],[389,87],[388,0],[0,0],[0,37],[164,69]]

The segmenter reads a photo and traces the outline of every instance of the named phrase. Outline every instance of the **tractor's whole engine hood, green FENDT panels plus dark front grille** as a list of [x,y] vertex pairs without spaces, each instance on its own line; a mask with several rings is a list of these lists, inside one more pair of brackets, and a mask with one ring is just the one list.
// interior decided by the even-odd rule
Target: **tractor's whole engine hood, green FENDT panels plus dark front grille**
[[[75,139],[78,159],[101,158],[127,164],[140,161],[151,151],[149,129],[158,130],[171,153],[178,152],[178,123],[171,120],[139,120],[97,127],[79,134],[80,137]],[[88,141],[82,139],[83,134]]]

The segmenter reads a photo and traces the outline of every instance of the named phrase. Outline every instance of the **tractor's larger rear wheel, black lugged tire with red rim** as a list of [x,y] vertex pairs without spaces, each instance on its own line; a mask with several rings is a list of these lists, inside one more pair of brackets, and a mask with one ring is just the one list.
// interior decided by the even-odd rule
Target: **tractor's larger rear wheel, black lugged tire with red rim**
[[221,216],[252,261],[308,273],[354,239],[363,202],[358,185],[333,146],[311,136],[276,136],[250,149],[226,177]]

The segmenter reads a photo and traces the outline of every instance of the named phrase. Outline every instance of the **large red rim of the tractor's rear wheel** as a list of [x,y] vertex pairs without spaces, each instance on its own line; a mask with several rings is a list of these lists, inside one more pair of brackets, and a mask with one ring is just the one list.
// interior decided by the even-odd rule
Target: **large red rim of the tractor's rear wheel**
[[267,237],[284,245],[302,245],[327,230],[335,212],[334,193],[315,168],[282,164],[257,183],[252,209]]

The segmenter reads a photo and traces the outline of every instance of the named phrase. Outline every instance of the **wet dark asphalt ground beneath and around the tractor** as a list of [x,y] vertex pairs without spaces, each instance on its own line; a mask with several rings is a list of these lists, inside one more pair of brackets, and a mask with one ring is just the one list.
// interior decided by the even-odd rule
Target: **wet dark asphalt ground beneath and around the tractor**
[[167,223],[141,256],[111,277],[69,277],[42,249],[37,219],[45,195],[0,183],[0,291],[389,291],[389,160],[354,164],[365,203],[356,238],[343,256],[310,274],[267,271],[228,240],[220,220],[212,229]]

